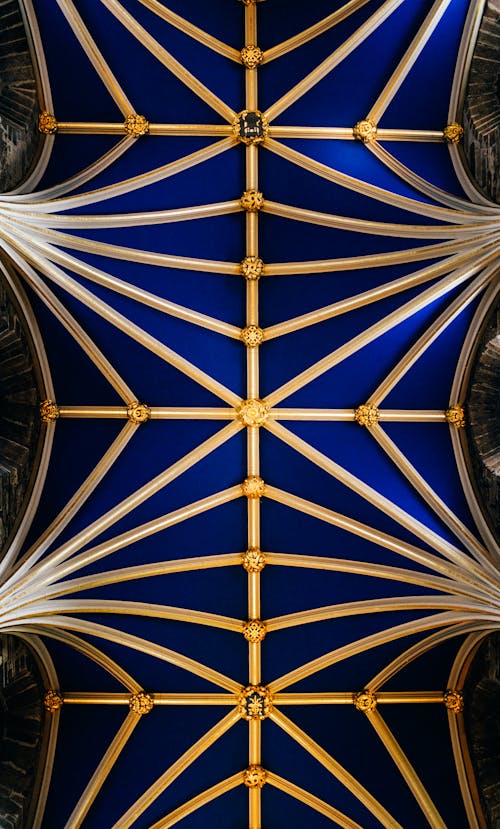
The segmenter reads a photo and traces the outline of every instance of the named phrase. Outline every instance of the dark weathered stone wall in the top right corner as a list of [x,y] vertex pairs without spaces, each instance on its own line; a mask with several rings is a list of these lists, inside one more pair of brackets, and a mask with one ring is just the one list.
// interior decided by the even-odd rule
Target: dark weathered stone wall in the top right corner
[[463,112],[464,154],[479,190],[500,202],[500,7],[488,0],[481,21]]

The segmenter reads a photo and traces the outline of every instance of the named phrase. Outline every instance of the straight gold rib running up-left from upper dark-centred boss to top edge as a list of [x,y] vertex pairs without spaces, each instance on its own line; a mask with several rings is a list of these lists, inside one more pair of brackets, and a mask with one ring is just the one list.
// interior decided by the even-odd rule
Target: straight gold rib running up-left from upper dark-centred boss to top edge
[[176,76],[183,84],[185,84],[191,92],[194,92],[199,98],[214,109],[226,121],[232,122],[236,113],[228,107],[224,101],[221,101],[208,87],[201,83],[198,78],[195,78],[191,72],[188,72],[185,66],[182,66],[170,52],[161,46],[152,35],[149,34],[137,20],[127,12],[118,0],[101,0],[101,3],[106,6],[108,11],[113,14],[120,23],[150,52],[157,60],[160,61],[173,75]]

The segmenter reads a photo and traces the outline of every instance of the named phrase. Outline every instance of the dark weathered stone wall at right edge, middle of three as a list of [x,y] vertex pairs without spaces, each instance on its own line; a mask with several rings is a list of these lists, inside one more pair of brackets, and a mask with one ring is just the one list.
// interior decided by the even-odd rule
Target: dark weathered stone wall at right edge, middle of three
[[466,400],[467,437],[478,500],[500,539],[500,302],[474,358]]

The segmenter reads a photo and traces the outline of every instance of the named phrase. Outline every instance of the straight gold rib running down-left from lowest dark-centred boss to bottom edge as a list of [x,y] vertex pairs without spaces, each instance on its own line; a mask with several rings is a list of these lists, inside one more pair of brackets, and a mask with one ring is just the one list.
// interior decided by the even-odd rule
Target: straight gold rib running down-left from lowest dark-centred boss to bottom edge
[[112,829],[129,829],[134,821],[164,792],[169,785],[182,774],[194,761],[206,751],[219,737],[222,737],[237,721],[237,711],[230,711],[210,731],[207,731],[191,748],[184,752],[178,760],[168,768],[161,777],[147,789],[141,797],[128,809],[125,814],[113,825]]

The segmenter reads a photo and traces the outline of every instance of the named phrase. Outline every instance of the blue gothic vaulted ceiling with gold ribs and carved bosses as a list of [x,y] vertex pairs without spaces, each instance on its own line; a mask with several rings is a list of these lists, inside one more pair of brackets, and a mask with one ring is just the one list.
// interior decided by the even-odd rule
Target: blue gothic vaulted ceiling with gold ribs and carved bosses
[[51,681],[34,826],[480,829],[462,688],[499,574],[463,403],[499,219],[459,142],[481,4],[25,10],[45,144],[0,245],[45,445],[0,631]]

